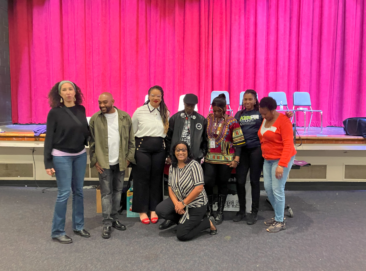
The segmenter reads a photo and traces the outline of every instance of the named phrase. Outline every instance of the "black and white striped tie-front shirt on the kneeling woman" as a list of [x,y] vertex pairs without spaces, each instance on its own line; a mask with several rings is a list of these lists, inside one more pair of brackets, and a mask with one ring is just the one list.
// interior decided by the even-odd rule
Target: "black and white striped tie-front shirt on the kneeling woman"
[[[197,161],[190,161],[184,168],[170,166],[168,185],[179,201],[184,201],[196,186],[203,184],[205,183],[203,182],[202,167]],[[186,213],[182,216],[179,223],[184,223],[186,219],[189,220],[189,208],[202,207],[207,202],[207,194],[205,188],[203,188],[197,198],[187,205]]]

